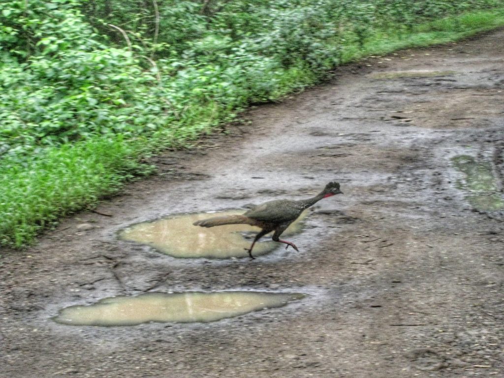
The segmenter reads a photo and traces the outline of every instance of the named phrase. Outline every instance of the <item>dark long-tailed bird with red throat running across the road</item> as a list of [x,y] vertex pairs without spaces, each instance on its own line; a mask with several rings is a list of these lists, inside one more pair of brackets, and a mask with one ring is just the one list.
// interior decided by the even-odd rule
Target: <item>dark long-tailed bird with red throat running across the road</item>
[[226,224],[249,224],[251,226],[260,227],[261,231],[254,238],[254,241],[252,242],[250,248],[244,248],[246,251],[248,251],[248,256],[251,260],[255,259],[255,257],[252,256],[252,249],[254,248],[254,244],[256,244],[256,242],[262,236],[271,231],[275,231],[272,236],[272,239],[274,241],[287,244],[285,246],[285,249],[287,249],[290,245],[292,248],[299,252],[299,249],[294,243],[280,239],[280,235],[292,222],[294,222],[299,217],[299,215],[301,215],[303,210],[309,208],[310,206],[313,206],[323,198],[328,198],[337,194],[343,194],[343,192],[340,191],[340,184],[339,182],[331,181],[317,196],[308,198],[306,200],[268,201],[251,208],[242,215],[225,215],[220,217],[202,219],[194,222],[193,225],[201,227],[214,227],[223,226]]

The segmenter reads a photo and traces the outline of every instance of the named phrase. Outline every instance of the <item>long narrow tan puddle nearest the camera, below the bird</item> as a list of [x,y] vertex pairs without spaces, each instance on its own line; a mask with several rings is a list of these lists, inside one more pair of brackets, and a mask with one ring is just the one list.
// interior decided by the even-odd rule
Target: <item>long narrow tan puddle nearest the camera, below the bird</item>
[[136,326],[143,323],[207,323],[247,312],[281,307],[301,293],[254,291],[147,293],[105,298],[62,309],[53,320],[73,326]]

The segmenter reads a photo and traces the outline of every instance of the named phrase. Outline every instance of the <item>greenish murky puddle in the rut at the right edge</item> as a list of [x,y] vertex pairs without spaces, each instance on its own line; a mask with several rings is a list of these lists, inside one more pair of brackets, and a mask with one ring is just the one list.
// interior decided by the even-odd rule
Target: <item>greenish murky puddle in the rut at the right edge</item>
[[459,155],[452,159],[455,167],[466,175],[457,187],[466,192],[467,200],[479,210],[502,210],[504,199],[499,192],[492,167],[488,162],[477,162],[472,156]]

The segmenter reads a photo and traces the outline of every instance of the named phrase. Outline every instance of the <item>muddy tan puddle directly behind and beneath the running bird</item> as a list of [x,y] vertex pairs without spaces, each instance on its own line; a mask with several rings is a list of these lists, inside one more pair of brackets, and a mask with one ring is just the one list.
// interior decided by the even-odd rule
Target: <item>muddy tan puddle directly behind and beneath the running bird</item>
[[[200,219],[219,215],[243,214],[244,210],[229,210],[218,213],[177,214],[157,221],[138,223],[119,232],[122,240],[150,245],[167,255],[177,258],[229,259],[248,257],[249,248],[258,227],[246,224],[229,224],[211,228],[194,226]],[[307,211],[293,222],[282,236],[299,232]],[[245,238],[249,235],[251,238]],[[254,246],[254,256],[264,255],[282,245],[265,235]]]

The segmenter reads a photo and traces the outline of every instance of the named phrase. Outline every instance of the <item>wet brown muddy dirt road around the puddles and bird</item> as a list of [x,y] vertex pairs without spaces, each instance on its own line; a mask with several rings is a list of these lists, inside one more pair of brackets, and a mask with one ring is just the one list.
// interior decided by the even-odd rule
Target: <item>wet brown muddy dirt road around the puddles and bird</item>
[[[97,209],[112,216],[80,213],[33,248],[2,251],[0,376],[504,376],[503,40],[338,70],[156,158],[158,175]],[[169,214],[305,198],[330,180],[345,194],[289,236],[299,253],[177,259],[117,238]],[[482,202],[469,196],[479,184]],[[105,297],[219,290],[307,296],[212,323],[50,319]]]

